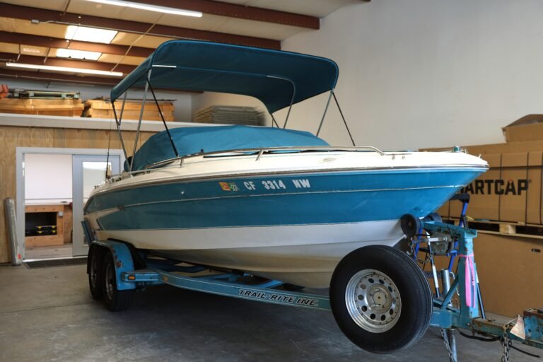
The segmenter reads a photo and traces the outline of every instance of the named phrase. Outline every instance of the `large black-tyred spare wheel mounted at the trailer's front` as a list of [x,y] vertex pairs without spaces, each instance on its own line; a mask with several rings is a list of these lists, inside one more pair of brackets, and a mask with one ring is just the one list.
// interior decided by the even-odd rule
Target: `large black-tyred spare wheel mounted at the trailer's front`
[[330,305],[346,337],[378,354],[414,344],[432,315],[424,273],[404,252],[384,245],[361,247],[341,259],[330,284]]

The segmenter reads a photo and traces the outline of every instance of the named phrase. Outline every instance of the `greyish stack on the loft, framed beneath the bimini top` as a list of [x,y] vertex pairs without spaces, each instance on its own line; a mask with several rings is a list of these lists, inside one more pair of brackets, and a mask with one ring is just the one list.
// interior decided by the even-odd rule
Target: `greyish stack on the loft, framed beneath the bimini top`
[[260,112],[256,107],[213,105],[196,112],[193,121],[199,123],[263,126],[266,119],[264,112]]

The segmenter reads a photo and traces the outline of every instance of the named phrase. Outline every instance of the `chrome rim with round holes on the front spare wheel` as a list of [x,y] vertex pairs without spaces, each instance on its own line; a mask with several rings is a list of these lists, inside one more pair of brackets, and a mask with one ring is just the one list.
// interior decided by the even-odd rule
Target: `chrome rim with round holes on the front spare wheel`
[[394,327],[402,311],[396,284],[375,269],[361,270],[351,276],[345,289],[345,303],[356,325],[372,333]]

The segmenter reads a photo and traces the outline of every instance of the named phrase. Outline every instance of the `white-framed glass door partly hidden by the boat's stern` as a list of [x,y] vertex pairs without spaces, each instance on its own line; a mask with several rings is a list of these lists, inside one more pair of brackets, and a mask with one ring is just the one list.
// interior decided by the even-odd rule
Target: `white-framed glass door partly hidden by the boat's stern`
[[[81,221],[83,221],[83,206],[87,202],[89,194],[96,185],[105,180],[107,156],[74,155],[73,168],[73,203],[74,203],[74,249],[73,255],[87,255],[88,240],[83,235]],[[110,155],[109,160],[112,174],[117,175],[121,168],[121,158]]]

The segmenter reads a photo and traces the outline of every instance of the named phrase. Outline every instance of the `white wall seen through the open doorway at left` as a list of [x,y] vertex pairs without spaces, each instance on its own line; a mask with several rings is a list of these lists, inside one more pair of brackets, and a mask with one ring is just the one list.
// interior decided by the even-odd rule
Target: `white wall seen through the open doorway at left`
[[71,202],[71,155],[25,154],[25,203]]

